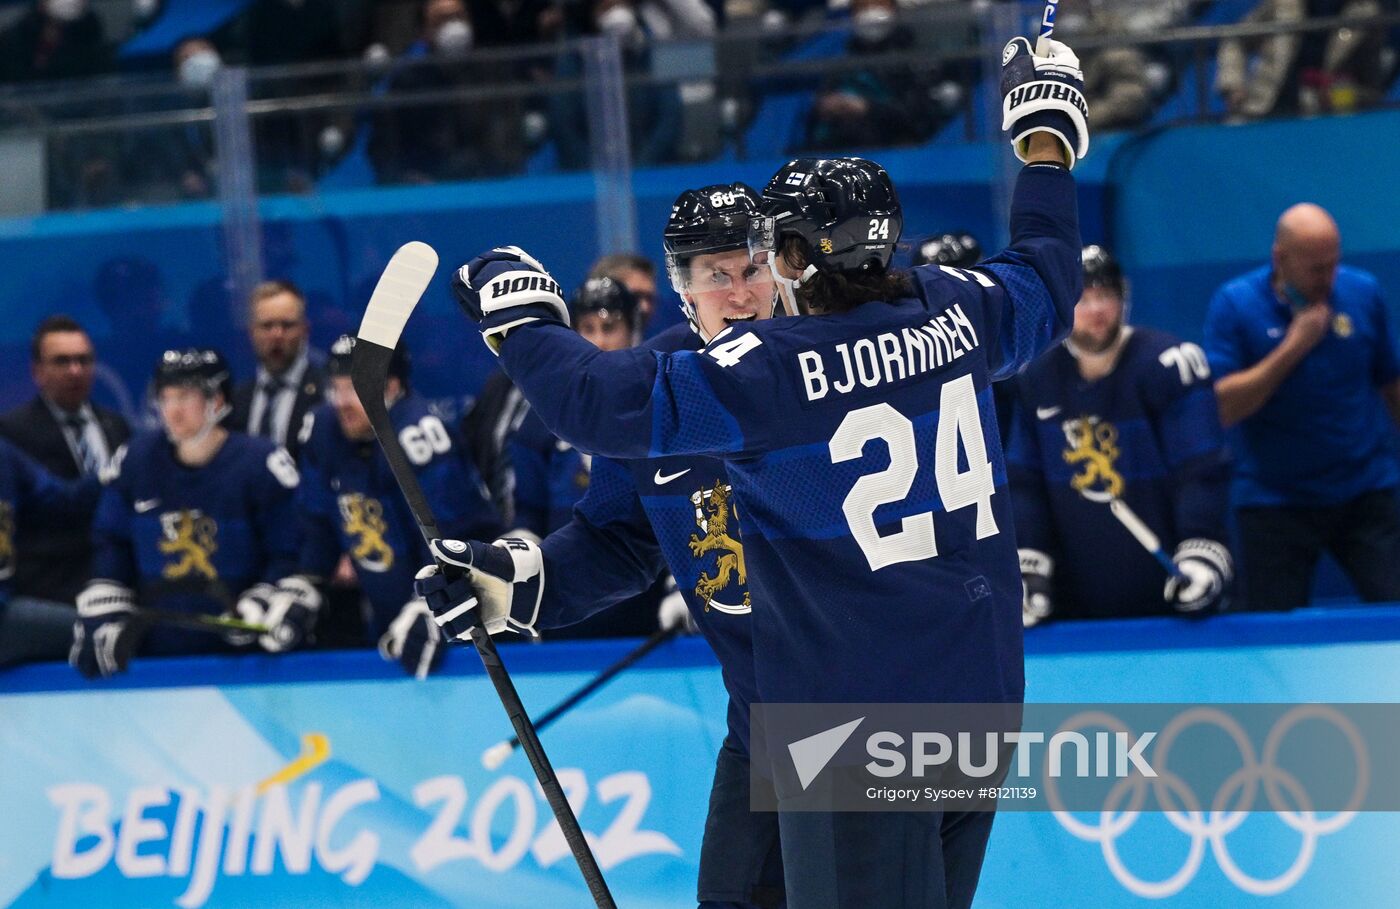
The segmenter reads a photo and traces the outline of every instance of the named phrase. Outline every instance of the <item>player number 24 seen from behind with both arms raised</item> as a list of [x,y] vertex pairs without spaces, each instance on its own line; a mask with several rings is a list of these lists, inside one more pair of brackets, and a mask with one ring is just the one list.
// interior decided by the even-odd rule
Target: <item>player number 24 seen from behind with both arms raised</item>
[[[519,248],[454,279],[560,437],[608,457],[725,461],[764,702],[1022,698],[1021,577],[990,382],[1070,322],[1081,266],[1068,169],[1088,150],[1078,60],[1043,46],[1033,56],[1018,38],[1002,55],[1004,126],[1028,167],[1011,247],[974,270],[888,270],[899,199],[883,168],[844,158],[785,165],[750,230],[802,315],[729,325],[699,352],[588,347]],[[489,606],[445,599],[433,608],[454,636],[490,620]],[[780,812],[787,898],[967,906],[991,817]]]

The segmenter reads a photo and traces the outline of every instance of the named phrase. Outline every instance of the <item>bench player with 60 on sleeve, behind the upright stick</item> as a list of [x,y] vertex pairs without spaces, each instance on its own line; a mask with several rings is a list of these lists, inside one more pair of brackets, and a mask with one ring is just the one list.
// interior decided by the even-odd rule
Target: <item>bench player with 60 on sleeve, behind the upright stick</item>
[[[349,555],[370,605],[367,627],[385,660],[426,676],[442,655],[441,634],[423,601],[413,594],[413,574],[428,557],[389,462],[374,441],[354,385],[350,354],[354,336],[330,347],[330,403],[311,413],[301,454],[297,504],[304,521],[300,571],[321,583],[342,555]],[[452,534],[494,539],[500,520],[458,440],[428,402],[409,385],[409,354],[400,343],[389,360],[385,398],[389,420],[433,499],[438,525]]]

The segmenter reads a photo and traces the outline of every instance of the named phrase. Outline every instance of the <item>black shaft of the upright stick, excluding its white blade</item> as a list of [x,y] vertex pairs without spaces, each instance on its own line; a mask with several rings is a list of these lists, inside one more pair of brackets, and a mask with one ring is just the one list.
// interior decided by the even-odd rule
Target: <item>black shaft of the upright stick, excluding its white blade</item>
[[[393,479],[398,480],[399,489],[409,503],[409,510],[413,511],[413,518],[423,532],[423,539],[433,541],[441,536],[437,520],[433,517],[433,508],[428,506],[428,500],[423,494],[423,487],[419,486],[419,479],[413,473],[413,465],[409,464],[409,458],[403,452],[398,436],[393,433],[393,424],[389,422],[389,410],[384,403],[384,389],[388,382],[389,357],[392,354],[393,350],[365,340],[361,333],[361,338],[356,342],[354,353],[350,356],[350,381],[360,396],[360,403],[370,419],[370,426],[374,427],[374,434],[379,440],[379,447],[389,462]],[[447,577],[461,577],[462,574],[462,569],[442,562],[438,562],[438,570]],[[594,902],[599,909],[616,909],[617,903],[613,902],[612,894],[608,891],[608,884],[603,881],[603,873],[598,867],[598,860],[594,857],[592,849],[588,847],[588,840],[584,839],[584,831],[578,826],[578,818],[574,817],[574,810],[564,797],[564,789],[554,776],[554,768],[545,754],[545,747],[539,742],[539,734],[535,731],[529,714],[521,703],[515,684],[511,681],[510,672],[505,671],[505,664],[501,662],[501,657],[496,651],[496,643],[480,625],[473,627],[470,634],[476,654],[482,658],[482,665],[486,667],[486,674],[490,676],[491,685],[496,686],[496,695],[501,699],[501,706],[505,707],[505,713],[510,716],[511,727],[515,728],[515,737],[521,741],[525,755],[529,758],[531,768],[535,770],[535,779],[539,780],[539,786],[545,791],[545,798],[554,814],[554,821],[564,833],[564,842],[568,843],[568,850],[574,854],[574,861],[578,863],[578,870],[588,884],[588,892],[592,894]]]

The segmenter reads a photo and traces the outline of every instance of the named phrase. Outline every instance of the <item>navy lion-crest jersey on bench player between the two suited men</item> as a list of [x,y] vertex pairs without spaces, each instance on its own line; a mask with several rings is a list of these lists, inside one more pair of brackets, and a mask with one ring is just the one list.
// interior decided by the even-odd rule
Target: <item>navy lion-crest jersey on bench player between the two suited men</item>
[[[181,464],[161,431],[132,438],[98,503],[92,577],[136,591],[139,602],[218,615],[258,583],[297,563],[297,465],[266,438],[230,433],[199,468]],[[140,651],[224,650],[217,634],[158,626]]]

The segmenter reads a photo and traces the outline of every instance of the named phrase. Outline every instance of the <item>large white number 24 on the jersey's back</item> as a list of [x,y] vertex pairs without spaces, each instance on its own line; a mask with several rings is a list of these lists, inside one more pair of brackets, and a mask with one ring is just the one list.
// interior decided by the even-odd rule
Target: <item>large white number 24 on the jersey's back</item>
[[[900,521],[900,529],[885,536],[875,528],[875,508],[903,501],[914,486],[914,475],[918,473],[914,423],[909,417],[888,403],[851,410],[832,436],[832,464],[860,458],[865,443],[875,438],[883,438],[889,445],[889,466],[855,480],[841,503],[851,535],[865,553],[872,571],[938,555],[931,511],[906,517]],[[958,469],[959,438],[967,455],[966,471]],[[970,375],[945,382],[939,395],[934,480],[938,483],[938,497],[945,511],[977,506],[977,539],[1001,532],[991,514],[995,483],[991,462],[987,459],[987,443],[981,434],[977,391]]]

